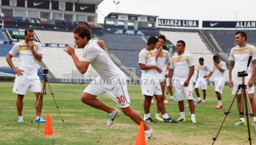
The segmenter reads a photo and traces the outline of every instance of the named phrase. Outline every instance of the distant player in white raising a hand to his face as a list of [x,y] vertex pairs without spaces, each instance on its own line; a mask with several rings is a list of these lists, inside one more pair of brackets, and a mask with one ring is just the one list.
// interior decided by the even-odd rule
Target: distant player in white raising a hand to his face
[[215,93],[218,98],[218,105],[215,106],[215,109],[222,109],[222,100],[221,94],[225,85],[225,71],[226,71],[226,62],[221,61],[217,55],[213,56],[214,65],[211,69],[211,72],[206,77],[206,81],[212,76],[215,72],[214,84],[215,84]]

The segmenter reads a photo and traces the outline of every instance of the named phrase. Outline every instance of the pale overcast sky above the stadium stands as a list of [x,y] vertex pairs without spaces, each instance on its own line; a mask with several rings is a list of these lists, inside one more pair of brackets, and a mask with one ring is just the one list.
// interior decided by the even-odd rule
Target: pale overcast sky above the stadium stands
[[[116,0],[118,13],[156,15],[158,18],[213,21],[256,21],[256,0]],[[98,23],[116,12],[113,0],[98,5]]]

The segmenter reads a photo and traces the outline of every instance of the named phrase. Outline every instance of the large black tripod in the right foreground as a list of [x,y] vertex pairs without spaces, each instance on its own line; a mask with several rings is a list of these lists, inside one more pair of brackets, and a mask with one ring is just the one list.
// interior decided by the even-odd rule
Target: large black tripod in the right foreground
[[[252,56],[249,57],[248,64],[247,64],[247,69],[248,69],[248,66],[250,65],[251,60],[252,60]],[[236,90],[236,92],[233,96],[232,101],[230,102],[230,105],[229,105],[227,111],[224,112],[225,117],[222,120],[222,123],[221,123],[220,127],[218,128],[218,132],[217,132],[216,136],[212,138],[213,139],[212,145],[216,141],[217,136],[218,136],[223,124],[224,124],[224,121],[226,120],[227,115],[229,113],[233,113],[233,112],[230,112],[230,109],[231,109],[231,107],[233,105],[233,102],[234,102],[235,98],[237,97],[238,91],[240,89],[241,89],[241,93],[242,93],[241,94],[241,109],[242,109],[242,112],[240,112],[239,114],[246,116],[247,128],[248,128],[248,140],[249,140],[250,145],[252,145],[252,138],[251,138],[250,123],[249,123],[248,115],[250,115],[252,117],[252,124],[253,124],[253,128],[254,128],[255,133],[256,133],[256,126],[255,126],[255,122],[254,122],[254,119],[253,119],[254,114],[252,112],[252,106],[251,106],[250,98],[249,98],[248,91],[247,91],[247,85],[245,84],[245,76],[248,76],[248,73],[246,73],[246,72],[247,72],[247,70],[242,71],[242,72],[237,72],[238,73],[237,76],[242,77],[242,83],[238,85],[237,90]],[[244,102],[245,102],[245,105],[244,105]],[[250,113],[248,113],[247,103],[248,103],[248,106],[249,106]],[[245,113],[244,113],[244,106],[245,106]],[[237,114],[237,113],[234,113],[234,114]]]

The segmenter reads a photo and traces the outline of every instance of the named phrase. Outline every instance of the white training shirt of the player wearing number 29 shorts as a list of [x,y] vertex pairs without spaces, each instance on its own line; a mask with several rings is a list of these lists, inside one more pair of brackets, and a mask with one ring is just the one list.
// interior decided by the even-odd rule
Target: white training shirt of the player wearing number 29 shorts
[[175,80],[185,81],[188,79],[189,67],[194,66],[194,59],[191,54],[184,52],[181,55],[175,54],[171,58],[170,69],[173,70]]

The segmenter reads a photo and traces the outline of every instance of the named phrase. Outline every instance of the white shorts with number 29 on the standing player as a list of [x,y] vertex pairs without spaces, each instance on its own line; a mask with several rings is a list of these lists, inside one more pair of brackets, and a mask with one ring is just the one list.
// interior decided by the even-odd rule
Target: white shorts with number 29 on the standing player
[[174,80],[173,87],[175,91],[174,100],[184,100],[184,94],[187,100],[193,100],[193,83],[189,82],[187,87],[184,87],[184,81]]

